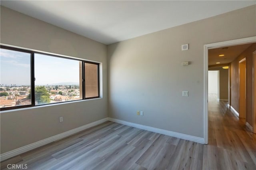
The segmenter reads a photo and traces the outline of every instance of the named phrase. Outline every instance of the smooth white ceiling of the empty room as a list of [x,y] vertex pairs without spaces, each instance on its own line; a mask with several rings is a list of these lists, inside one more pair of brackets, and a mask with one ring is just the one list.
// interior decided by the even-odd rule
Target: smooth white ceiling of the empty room
[[2,6],[104,44],[202,20],[256,4],[228,1],[32,1]]

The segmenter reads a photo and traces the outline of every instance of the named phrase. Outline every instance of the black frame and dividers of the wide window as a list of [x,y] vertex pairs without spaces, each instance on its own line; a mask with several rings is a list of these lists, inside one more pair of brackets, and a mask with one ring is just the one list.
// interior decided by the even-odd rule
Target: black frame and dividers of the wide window
[[[30,53],[30,85],[31,85],[31,105],[22,105],[22,106],[13,106],[13,107],[3,107],[0,108],[0,111],[6,111],[6,110],[15,110],[15,109],[21,109],[21,108],[28,108],[28,107],[37,107],[37,106],[44,106],[44,105],[54,105],[54,104],[60,104],[60,103],[69,103],[69,102],[74,102],[74,101],[83,101],[83,100],[88,100],[88,99],[96,99],[100,98],[100,63],[92,62],[92,61],[86,61],[83,59],[74,59],[72,57],[64,57],[60,55],[55,55],[55,54],[48,54],[44,52],[38,52],[38,51],[32,51],[32,50],[27,50],[27,49],[21,49],[17,47],[9,47],[6,45],[0,45],[0,49],[8,49],[12,51],[20,51],[20,52],[25,52],[25,53]],[[48,55],[51,57],[59,57],[59,58],[64,58],[64,59],[72,59],[76,61],[81,61],[82,62],[82,99],[78,100],[73,100],[73,101],[63,101],[63,102],[58,102],[58,103],[45,103],[45,104],[40,104],[40,105],[35,105],[35,65],[34,65],[34,56],[36,54],[42,54],[42,55]],[[97,65],[97,75],[98,75],[98,96],[95,97],[85,97],[85,63],[90,63],[90,64],[95,64]]]

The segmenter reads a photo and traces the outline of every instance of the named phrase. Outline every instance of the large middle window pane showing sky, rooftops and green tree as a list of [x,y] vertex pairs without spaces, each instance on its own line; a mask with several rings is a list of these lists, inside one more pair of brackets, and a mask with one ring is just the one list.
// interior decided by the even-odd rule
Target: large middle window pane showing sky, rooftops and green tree
[[37,54],[35,63],[35,104],[82,99],[82,61]]

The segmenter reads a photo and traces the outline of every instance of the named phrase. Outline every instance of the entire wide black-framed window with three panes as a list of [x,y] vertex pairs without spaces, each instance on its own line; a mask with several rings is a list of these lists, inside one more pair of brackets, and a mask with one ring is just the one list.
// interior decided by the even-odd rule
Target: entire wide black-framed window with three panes
[[98,63],[2,45],[0,63],[1,111],[99,97]]

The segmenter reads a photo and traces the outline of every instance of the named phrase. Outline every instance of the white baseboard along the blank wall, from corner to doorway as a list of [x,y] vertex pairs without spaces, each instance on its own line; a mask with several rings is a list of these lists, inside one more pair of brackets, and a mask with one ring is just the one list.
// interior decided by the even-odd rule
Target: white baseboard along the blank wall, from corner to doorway
[[127,125],[127,126],[130,126],[130,127],[136,127],[136,128],[148,130],[150,132],[156,132],[156,133],[165,134],[165,135],[168,135],[168,136],[173,136],[173,137],[176,137],[176,138],[181,138],[181,139],[190,140],[190,141],[193,141],[193,142],[198,142],[198,143],[204,144],[204,138],[199,138],[199,137],[196,137],[196,136],[190,136],[188,134],[172,132],[172,131],[164,130],[164,129],[160,129],[160,128],[148,127],[148,126],[145,126],[145,125],[126,122],[126,121],[122,121],[122,120],[114,119],[114,118],[108,118],[108,121],[112,121],[112,122],[120,123],[122,125]]

